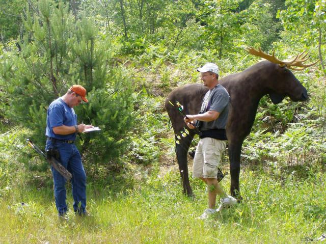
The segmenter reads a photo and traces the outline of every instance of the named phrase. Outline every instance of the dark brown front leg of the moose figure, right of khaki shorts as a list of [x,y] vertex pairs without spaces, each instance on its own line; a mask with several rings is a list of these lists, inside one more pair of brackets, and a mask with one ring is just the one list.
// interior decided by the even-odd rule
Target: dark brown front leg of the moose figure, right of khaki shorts
[[238,201],[242,199],[242,197],[240,196],[240,188],[239,188],[241,146],[242,143],[240,142],[229,144],[230,175],[231,175],[230,192],[231,192],[231,196],[238,199]]

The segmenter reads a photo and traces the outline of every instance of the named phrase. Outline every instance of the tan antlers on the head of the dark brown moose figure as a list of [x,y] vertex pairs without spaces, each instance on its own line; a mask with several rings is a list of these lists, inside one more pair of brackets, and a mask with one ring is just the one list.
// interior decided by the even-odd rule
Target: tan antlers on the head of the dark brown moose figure
[[[279,64],[280,66],[286,66],[289,69],[292,70],[303,70],[307,67],[315,65],[318,60],[311,64],[303,64],[305,61],[307,61],[310,58],[309,52],[306,50],[302,53],[299,53],[293,60],[291,61],[282,61],[275,57],[275,50],[273,51],[273,55],[268,55],[267,53],[263,52],[260,47],[259,50],[256,50],[253,47],[246,48],[246,51],[251,53],[252,55],[258,56],[260,58],[263,58],[265,60],[268,60],[272,63]],[[294,68],[294,67],[302,67],[302,68]]]

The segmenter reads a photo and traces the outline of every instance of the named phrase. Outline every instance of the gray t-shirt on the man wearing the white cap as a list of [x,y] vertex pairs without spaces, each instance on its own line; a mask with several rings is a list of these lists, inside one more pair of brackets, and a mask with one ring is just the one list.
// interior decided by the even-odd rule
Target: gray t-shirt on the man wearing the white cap
[[230,96],[227,90],[220,84],[209,90],[204,97],[200,113],[209,110],[220,113],[218,119],[210,122],[200,122],[200,130],[225,129],[229,115]]

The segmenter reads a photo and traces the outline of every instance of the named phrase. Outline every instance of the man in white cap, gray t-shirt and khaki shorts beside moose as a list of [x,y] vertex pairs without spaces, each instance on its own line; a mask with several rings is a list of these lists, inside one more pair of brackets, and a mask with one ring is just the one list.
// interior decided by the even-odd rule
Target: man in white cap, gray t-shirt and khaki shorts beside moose
[[[217,176],[218,166],[226,148],[226,123],[229,113],[230,96],[227,90],[219,84],[219,68],[216,64],[207,63],[197,69],[201,73],[206,93],[200,113],[186,115],[185,123],[190,129],[196,126],[200,130],[200,141],[197,145],[193,165],[193,177],[203,180],[208,187],[208,208],[200,216],[207,219],[209,215],[225,207],[236,204],[236,199],[227,195],[221,188]],[[221,197],[221,204],[215,210],[216,195]]]

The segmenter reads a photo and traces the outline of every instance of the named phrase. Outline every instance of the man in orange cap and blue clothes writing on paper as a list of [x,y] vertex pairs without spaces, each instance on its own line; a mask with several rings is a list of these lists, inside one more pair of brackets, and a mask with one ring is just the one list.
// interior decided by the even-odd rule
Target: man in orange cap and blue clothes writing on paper
[[[72,174],[73,209],[80,215],[86,212],[86,173],[82,157],[74,144],[78,132],[83,132],[92,125],[77,125],[77,115],[73,107],[80,102],[88,102],[86,89],[73,85],[67,93],[51,102],[46,117],[46,151],[58,152],[61,164]],[[65,178],[51,167],[55,184],[55,201],[59,216],[64,216],[68,210],[66,204]]]

